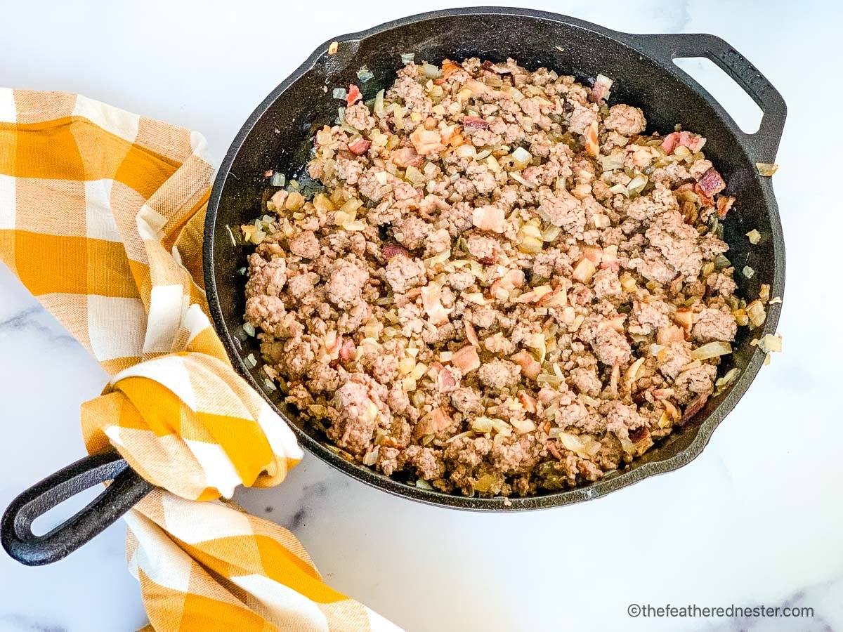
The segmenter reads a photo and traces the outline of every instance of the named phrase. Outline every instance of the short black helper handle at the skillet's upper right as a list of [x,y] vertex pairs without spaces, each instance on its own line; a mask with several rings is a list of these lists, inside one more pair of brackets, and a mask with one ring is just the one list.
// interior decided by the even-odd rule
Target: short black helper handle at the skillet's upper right
[[[755,162],[772,163],[781,142],[787,118],[787,105],[776,88],[749,60],[727,41],[705,33],[675,33],[665,35],[632,35],[631,43],[649,55],[658,57],[675,72],[696,83],[687,72],[674,64],[681,57],[706,57],[733,78],[744,92],[764,112],[761,125],[754,134],[738,132],[753,150]],[[697,84],[698,85],[698,84]],[[701,88],[701,86],[698,86]],[[737,126],[735,126],[737,128]]]

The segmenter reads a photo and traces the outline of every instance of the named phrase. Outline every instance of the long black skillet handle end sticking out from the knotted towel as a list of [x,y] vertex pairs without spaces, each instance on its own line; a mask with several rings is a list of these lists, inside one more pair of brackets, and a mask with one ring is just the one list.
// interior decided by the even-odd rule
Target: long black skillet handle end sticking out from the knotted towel
[[[88,506],[44,535],[32,533],[32,522],[54,506],[89,487],[112,481]],[[0,520],[3,549],[27,566],[61,560],[105,531],[154,489],[118,453],[92,454],[36,483],[15,498]]]

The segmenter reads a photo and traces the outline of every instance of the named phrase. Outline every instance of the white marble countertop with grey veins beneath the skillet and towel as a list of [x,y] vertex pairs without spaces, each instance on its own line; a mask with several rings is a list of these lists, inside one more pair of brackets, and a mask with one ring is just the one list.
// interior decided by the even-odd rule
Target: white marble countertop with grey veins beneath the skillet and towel
[[[189,126],[219,160],[255,104],[314,46],[413,12],[402,3],[349,10],[334,0],[310,3],[308,13],[243,0],[131,5],[9,3],[0,85],[80,92]],[[834,360],[843,334],[839,281],[829,282],[840,266],[832,239],[843,229],[834,142],[843,89],[832,61],[843,10],[823,0],[769,0],[763,9],[725,0],[533,6],[634,32],[720,35],[781,90],[789,108],[775,177],[787,237],[785,352],[700,458],[599,501],[508,515],[439,509],[370,489],[309,455],[279,488],[237,499],[292,528],[333,586],[413,631],[843,629]],[[0,266],[0,507],[83,455],[78,405],[105,379]],[[119,522],[44,568],[0,554],[0,632],[137,629],[145,619],[124,532]],[[797,605],[815,616],[631,619],[629,603]]]

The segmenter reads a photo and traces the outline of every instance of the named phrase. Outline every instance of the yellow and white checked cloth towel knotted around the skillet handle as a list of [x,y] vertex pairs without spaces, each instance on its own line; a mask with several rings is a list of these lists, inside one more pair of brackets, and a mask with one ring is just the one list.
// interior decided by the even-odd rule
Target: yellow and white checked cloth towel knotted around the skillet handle
[[395,630],[332,590],[292,533],[217,500],[277,485],[293,432],[207,316],[204,139],[77,94],[0,88],[0,257],[112,378],[82,406],[159,490],[126,515],[155,630]]

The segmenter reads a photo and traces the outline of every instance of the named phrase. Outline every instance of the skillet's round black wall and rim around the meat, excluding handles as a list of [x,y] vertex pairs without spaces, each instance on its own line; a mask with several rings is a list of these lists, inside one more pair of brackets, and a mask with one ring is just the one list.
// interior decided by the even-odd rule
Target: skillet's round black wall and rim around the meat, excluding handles
[[[711,158],[728,182],[727,193],[738,198],[725,224],[725,238],[731,247],[728,256],[738,270],[735,279],[741,295],[757,296],[761,283],[770,283],[774,296],[781,296],[784,290],[784,244],[776,201],[769,180],[761,179],[754,169],[754,162],[771,160],[772,156],[749,155],[753,152],[752,143],[722,108],[672,64],[658,62],[658,55],[648,54],[648,46],[658,46],[658,35],[615,33],[550,13],[482,8],[428,13],[337,40],[340,45],[336,55],[326,54],[325,43],[246,121],[217,175],[206,225],[206,286],[217,331],[235,367],[277,406],[299,441],[319,458],[369,485],[418,501],[482,510],[529,509],[588,500],[647,475],[675,469],[699,454],[760,367],[763,355],[749,345],[753,337],[760,335],[757,329],[741,328],[733,356],[722,364],[721,374],[733,366],[742,369],[738,383],[727,393],[710,399],[695,420],[674,431],[644,458],[592,485],[513,498],[508,506],[502,498],[464,498],[421,490],[347,462],[323,446],[313,431],[305,429],[277,392],[266,388],[260,366],[250,371],[244,365],[244,356],[260,356],[255,339],[241,342],[232,335],[242,324],[244,313],[244,277],[237,270],[246,265],[250,249],[234,246],[228,227],[237,232],[240,224],[260,213],[260,201],[267,190],[266,169],[290,175],[300,172],[307,163],[314,130],[333,121],[341,104],[330,98],[330,90],[358,83],[357,69],[365,63],[374,78],[362,84],[363,96],[372,97],[395,77],[395,70],[401,65],[400,52],[414,51],[416,61],[431,62],[469,56],[502,61],[512,56],[529,70],[549,67],[561,74],[573,74],[588,85],[598,72],[615,79],[609,104],[641,107],[647,116],[647,131],[667,133],[681,122],[685,129],[707,137],[706,157]],[[626,42],[635,42],[635,47]],[[744,233],[752,228],[757,228],[764,238],[749,247]],[[739,273],[744,265],[755,270],[750,280]],[[778,305],[771,306],[765,332],[775,332],[778,310]]]

